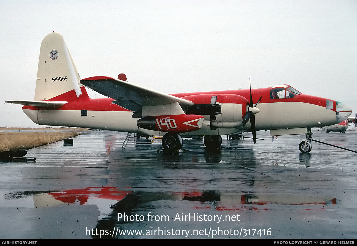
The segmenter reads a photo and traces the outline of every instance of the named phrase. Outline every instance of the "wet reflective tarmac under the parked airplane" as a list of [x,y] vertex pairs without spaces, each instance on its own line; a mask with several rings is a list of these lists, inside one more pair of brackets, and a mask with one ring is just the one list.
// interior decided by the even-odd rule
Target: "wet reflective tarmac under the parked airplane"
[[[356,153],[302,154],[305,137],[264,131],[254,145],[222,136],[219,151],[184,139],[178,154],[151,138],[121,149],[125,136],[86,131],[0,162],[0,238],[357,238]],[[356,131],[312,137],[357,150]]]

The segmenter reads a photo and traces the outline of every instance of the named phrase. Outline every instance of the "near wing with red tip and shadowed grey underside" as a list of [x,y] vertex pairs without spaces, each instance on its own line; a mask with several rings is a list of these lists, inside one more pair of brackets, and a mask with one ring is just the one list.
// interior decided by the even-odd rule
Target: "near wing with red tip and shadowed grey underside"
[[158,106],[175,102],[178,102],[182,109],[193,105],[191,101],[111,77],[89,77],[80,82],[102,95],[115,99],[113,103],[131,111],[141,111],[142,106]]

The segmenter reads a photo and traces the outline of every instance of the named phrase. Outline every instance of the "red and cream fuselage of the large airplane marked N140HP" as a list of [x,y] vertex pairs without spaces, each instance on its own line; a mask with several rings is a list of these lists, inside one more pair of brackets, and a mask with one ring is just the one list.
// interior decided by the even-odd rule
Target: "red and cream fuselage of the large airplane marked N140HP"
[[[81,87],[82,91],[85,90]],[[337,123],[336,101],[332,101],[332,109],[327,109],[326,100],[322,97],[305,94],[296,95],[293,98],[271,99],[271,88],[253,89],[253,101],[262,96],[257,105],[260,112],[256,114],[257,130],[291,129],[300,127],[319,127]],[[63,101],[71,97],[74,91],[54,97],[50,101]],[[249,90],[229,90],[215,92],[194,92],[172,94],[176,97],[205,94],[240,95],[249,99]],[[91,99],[81,96],[78,100],[69,101],[56,109],[44,109],[34,106],[24,106],[22,110],[36,124],[56,126],[77,126],[95,129],[106,129],[122,132],[141,132],[147,135],[164,135],[166,132],[142,129],[137,126],[137,120],[133,118],[133,112],[112,103],[114,99]],[[333,108],[334,107],[334,108]],[[218,115],[219,117],[219,115]],[[227,135],[241,130],[251,130],[248,122],[244,127],[216,128],[211,130],[210,119],[203,122],[202,128],[192,132],[182,132],[181,135]]]

